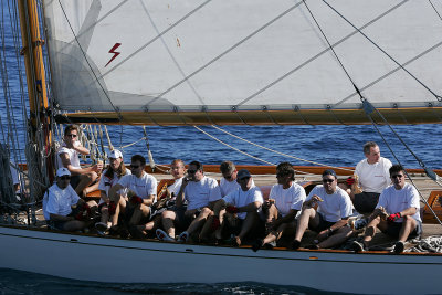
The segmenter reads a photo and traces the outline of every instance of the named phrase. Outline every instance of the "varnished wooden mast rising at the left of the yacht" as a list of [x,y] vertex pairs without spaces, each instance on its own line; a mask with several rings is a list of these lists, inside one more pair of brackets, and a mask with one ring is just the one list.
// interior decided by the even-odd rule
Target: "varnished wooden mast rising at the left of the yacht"
[[[52,134],[42,52],[44,40],[40,34],[38,3],[34,0],[19,0],[18,8],[23,44],[21,54],[24,56],[30,106],[29,140],[35,144],[39,150],[44,150],[44,155],[49,155]],[[52,160],[50,157],[45,158],[45,165],[40,160],[39,162],[45,166],[46,175],[52,181]],[[43,167],[40,168],[43,171]]]

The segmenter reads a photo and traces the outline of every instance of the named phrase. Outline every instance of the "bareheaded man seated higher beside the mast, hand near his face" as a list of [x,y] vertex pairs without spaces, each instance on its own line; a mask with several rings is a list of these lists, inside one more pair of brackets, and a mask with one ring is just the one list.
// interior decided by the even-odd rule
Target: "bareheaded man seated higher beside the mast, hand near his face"
[[[80,166],[80,155],[90,155],[90,150],[82,146],[78,136],[78,126],[66,126],[62,146],[59,148],[56,155],[60,157],[57,159],[57,168],[67,168],[72,175],[71,186],[75,189],[77,194],[83,197],[98,188],[96,180],[98,173],[103,170],[103,164],[98,162],[84,168]],[[92,187],[88,187],[91,185]]]

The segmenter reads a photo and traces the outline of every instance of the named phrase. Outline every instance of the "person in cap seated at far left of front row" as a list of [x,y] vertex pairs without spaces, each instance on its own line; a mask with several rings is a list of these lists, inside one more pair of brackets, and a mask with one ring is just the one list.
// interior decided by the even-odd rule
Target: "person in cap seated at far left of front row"
[[71,172],[66,168],[59,168],[55,183],[44,193],[43,214],[50,228],[74,232],[92,222],[97,204],[82,200],[70,181]]

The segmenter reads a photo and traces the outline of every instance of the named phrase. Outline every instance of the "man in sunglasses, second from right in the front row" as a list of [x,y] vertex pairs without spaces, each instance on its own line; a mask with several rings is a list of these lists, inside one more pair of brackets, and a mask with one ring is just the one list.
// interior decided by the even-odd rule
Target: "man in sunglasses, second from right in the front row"
[[[303,204],[297,221],[295,240],[292,247],[298,249],[304,232],[309,228],[318,233],[312,249],[334,247],[344,243],[352,233],[347,225],[352,213],[352,204],[348,193],[337,187],[334,170],[323,172],[323,185],[316,186]],[[318,204],[317,211],[314,206]]]

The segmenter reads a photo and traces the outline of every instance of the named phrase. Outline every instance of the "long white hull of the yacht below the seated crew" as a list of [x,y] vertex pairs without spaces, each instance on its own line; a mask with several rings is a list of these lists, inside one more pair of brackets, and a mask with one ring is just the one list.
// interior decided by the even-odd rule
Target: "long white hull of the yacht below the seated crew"
[[440,294],[442,255],[259,251],[0,226],[0,267],[117,283],[261,282],[328,292]]

